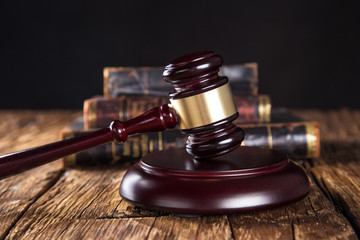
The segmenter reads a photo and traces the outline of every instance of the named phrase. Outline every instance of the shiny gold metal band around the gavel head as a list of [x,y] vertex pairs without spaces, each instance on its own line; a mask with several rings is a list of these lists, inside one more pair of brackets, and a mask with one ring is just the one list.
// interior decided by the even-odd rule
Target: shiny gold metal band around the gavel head
[[237,113],[230,84],[186,98],[170,99],[180,129],[211,124]]

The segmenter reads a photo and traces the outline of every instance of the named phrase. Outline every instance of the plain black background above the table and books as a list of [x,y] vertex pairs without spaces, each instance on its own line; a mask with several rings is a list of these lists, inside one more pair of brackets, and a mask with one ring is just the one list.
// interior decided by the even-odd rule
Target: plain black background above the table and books
[[104,66],[259,63],[273,106],[360,107],[356,1],[2,1],[0,109],[82,108]]

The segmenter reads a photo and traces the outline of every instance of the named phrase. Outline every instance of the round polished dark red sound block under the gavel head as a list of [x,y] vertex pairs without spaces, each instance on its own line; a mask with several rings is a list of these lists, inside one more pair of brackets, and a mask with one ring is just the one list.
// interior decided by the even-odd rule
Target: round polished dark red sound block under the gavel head
[[195,160],[184,148],[151,153],[125,174],[120,195],[147,209],[224,214],[283,206],[310,191],[304,169],[286,154],[239,147]]

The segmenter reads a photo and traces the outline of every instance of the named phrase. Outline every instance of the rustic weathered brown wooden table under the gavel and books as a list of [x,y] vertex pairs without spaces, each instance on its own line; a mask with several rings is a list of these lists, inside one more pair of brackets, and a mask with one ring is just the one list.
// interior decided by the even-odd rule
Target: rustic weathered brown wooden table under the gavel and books
[[[360,111],[297,110],[321,126],[321,157],[302,164],[310,195],[267,211],[182,218],[126,203],[126,169],[56,161],[0,181],[1,239],[358,239]],[[80,111],[0,111],[0,154],[57,140]]]

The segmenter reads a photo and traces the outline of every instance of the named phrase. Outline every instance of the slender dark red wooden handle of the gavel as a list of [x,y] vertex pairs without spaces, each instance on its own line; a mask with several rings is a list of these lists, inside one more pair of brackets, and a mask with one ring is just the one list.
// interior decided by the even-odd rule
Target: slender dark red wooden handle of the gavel
[[162,131],[176,125],[175,112],[162,105],[125,122],[115,120],[108,128],[87,135],[0,156],[0,179],[110,141],[122,143],[136,133]]

